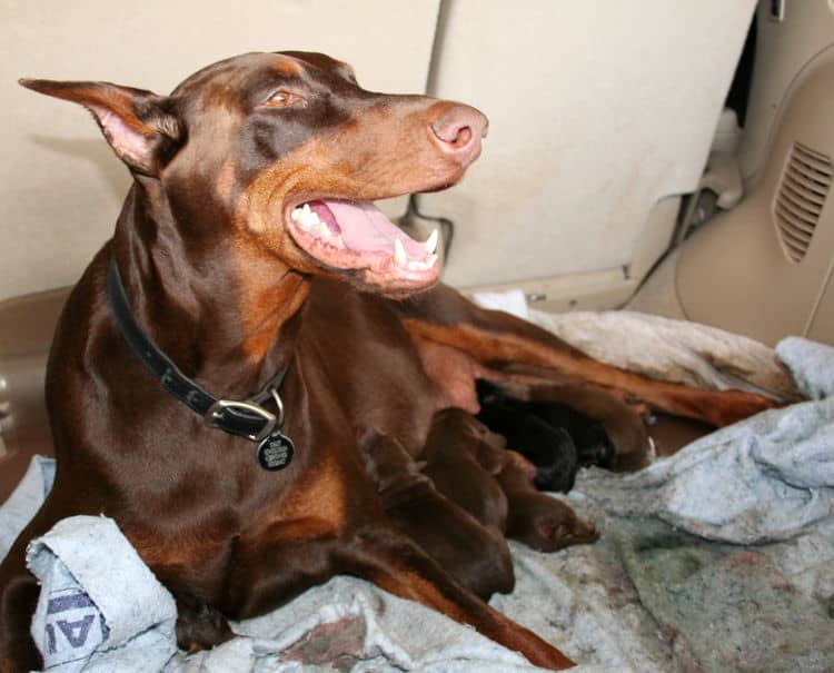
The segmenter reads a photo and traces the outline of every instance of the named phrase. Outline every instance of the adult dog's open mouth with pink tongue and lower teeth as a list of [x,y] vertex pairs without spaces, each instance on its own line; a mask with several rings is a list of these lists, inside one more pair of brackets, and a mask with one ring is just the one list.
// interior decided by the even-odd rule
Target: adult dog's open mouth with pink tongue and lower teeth
[[439,276],[437,231],[418,243],[369,201],[316,199],[291,208],[287,219],[308,255],[327,267],[363,270],[374,285],[417,289]]

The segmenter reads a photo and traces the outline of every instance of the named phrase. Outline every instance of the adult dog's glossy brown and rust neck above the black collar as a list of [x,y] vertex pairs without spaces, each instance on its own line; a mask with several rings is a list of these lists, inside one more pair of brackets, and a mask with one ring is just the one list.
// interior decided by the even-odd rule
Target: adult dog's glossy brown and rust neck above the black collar
[[137,180],[113,237],[137,324],[188,376],[246,397],[289,364],[310,280],[211,222],[179,221]]

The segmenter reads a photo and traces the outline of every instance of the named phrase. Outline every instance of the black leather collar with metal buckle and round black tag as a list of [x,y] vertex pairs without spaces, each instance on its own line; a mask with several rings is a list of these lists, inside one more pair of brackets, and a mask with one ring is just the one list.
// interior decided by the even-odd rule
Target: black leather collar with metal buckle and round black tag
[[[281,437],[286,441],[285,444],[289,444],[289,458],[279,467],[264,466],[267,469],[278,469],[289,463],[289,459],[291,459],[291,442],[280,434],[284,407],[278,395],[287,374],[287,367],[281,369],[278,376],[270,380],[260,393],[247,400],[218,399],[182,374],[177,365],[136,324],[115,257],[110,257],[110,267],[107,273],[107,296],[125,340],[168,393],[202,416],[209,426],[230,435],[258,442],[261,445],[259,446],[259,461],[262,445],[270,437]],[[261,406],[270,398],[275,400],[278,407],[277,415]],[[275,444],[275,441],[272,444]]]

